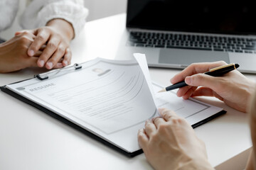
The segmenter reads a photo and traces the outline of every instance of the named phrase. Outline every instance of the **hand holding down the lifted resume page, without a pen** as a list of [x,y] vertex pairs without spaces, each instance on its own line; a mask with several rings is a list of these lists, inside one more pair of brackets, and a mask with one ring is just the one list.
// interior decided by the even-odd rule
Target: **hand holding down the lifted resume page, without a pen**
[[139,145],[154,169],[213,169],[206,147],[185,119],[167,109],[139,130]]

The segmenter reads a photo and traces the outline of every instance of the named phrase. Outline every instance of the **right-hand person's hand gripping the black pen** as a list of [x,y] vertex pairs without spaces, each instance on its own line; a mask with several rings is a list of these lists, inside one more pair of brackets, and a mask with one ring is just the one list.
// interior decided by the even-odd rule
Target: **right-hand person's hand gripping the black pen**
[[226,65],[225,62],[191,64],[176,74],[171,79],[171,84],[185,81],[188,86],[183,86],[177,91],[177,96],[184,99],[195,96],[213,96],[224,101],[228,106],[245,112],[250,95],[254,93],[254,81],[247,79],[236,69],[232,72],[218,74],[217,77],[206,74],[210,69]]

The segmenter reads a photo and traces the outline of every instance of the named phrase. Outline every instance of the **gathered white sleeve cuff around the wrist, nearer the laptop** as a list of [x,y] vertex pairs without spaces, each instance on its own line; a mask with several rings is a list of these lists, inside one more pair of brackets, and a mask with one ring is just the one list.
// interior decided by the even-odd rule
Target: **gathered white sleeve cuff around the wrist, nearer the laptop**
[[20,25],[24,29],[34,29],[46,26],[54,18],[62,18],[72,24],[78,35],[88,13],[83,0],[33,0],[21,16]]

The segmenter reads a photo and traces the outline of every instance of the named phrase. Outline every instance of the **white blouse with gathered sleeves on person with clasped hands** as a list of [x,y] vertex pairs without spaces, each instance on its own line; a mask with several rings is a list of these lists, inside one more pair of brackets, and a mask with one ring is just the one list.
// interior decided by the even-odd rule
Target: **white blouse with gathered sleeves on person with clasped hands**
[[[34,29],[46,26],[53,18],[63,18],[73,25],[75,35],[85,25],[88,15],[83,0],[26,0],[27,6],[18,19],[21,28]],[[0,32],[14,22],[19,0],[0,0]]]

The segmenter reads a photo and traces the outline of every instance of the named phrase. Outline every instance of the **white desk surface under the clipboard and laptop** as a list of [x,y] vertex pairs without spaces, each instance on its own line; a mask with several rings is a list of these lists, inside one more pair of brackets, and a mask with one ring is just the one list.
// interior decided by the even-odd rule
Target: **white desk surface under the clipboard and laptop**
[[[72,42],[73,63],[95,57],[114,58],[124,26],[124,14],[87,23],[85,31]],[[43,71],[0,74],[0,86]],[[150,69],[151,78],[163,86],[169,85],[177,72],[180,70]],[[228,111],[195,129],[206,142],[210,164],[216,169],[242,169],[252,146],[247,115],[212,98],[201,100]],[[0,109],[0,169],[151,169],[144,154],[124,157],[3,92]]]

